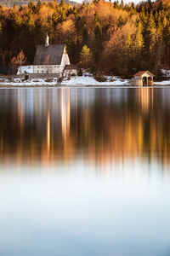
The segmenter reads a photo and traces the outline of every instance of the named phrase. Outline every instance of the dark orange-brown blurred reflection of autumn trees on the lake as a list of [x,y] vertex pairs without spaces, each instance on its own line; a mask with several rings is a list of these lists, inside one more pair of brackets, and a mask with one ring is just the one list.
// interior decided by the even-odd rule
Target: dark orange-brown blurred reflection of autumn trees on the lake
[[2,161],[170,159],[170,102],[162,89],[93,89],[90,101],[76,89],[34,90],[28,98],[23,91],[0,98]]

